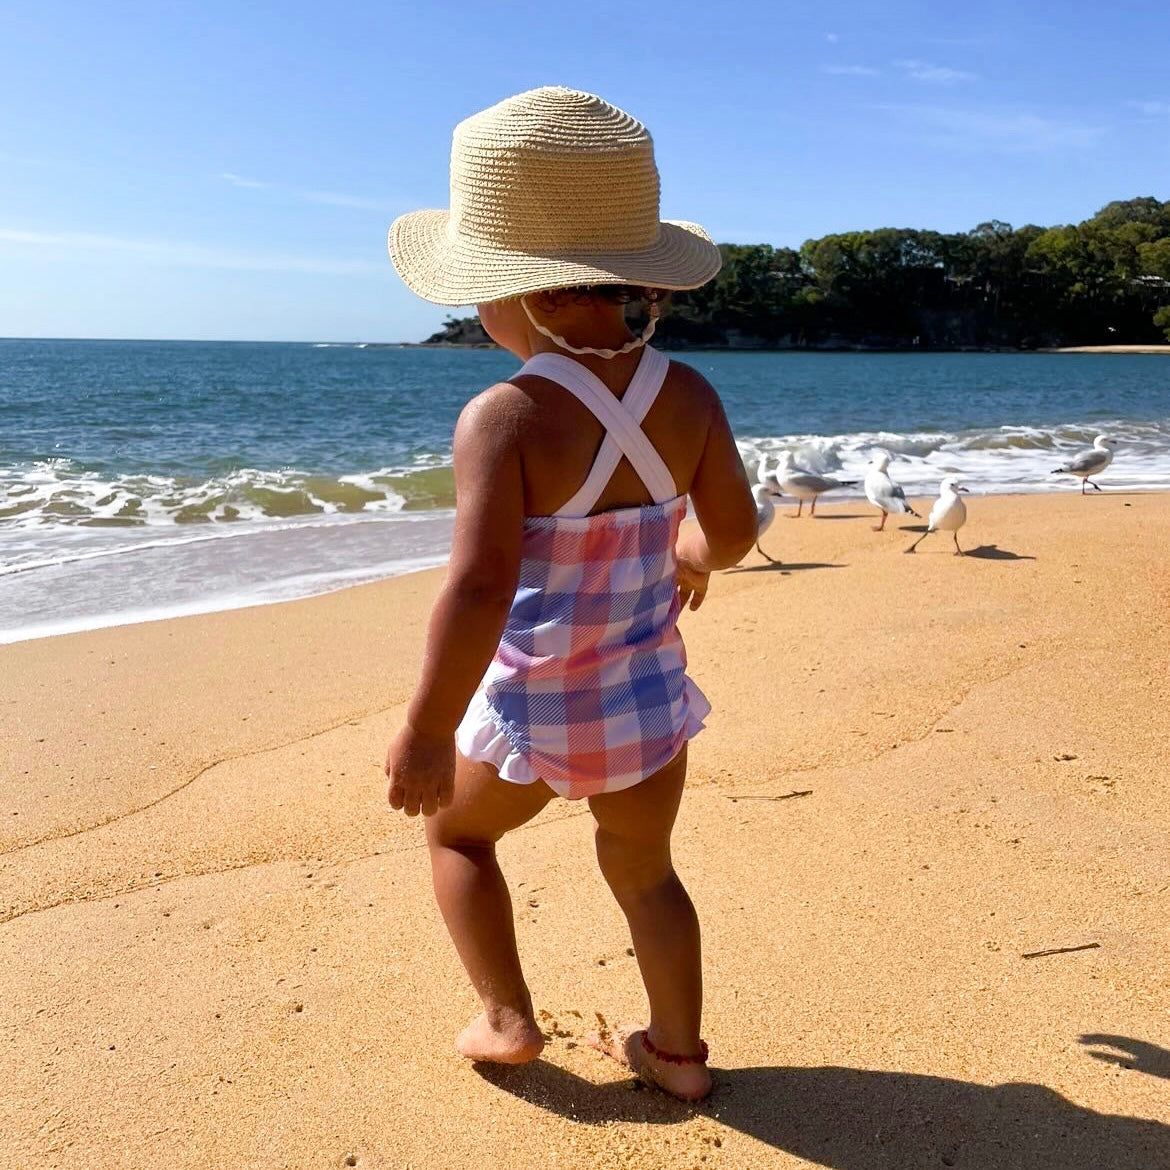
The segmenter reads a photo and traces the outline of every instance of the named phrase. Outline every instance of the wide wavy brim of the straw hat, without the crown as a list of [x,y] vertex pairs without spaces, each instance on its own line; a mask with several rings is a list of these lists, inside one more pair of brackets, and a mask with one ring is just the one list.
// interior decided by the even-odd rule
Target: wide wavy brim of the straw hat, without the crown
[[407,287],[434,304],[483,304],[577,284],[642,284],[694,289],[722,263],[697,225],[665,220],[658,240],[639,252],[534,255],[448,234],[450,213],[411,212],[391,225],[390,259]]

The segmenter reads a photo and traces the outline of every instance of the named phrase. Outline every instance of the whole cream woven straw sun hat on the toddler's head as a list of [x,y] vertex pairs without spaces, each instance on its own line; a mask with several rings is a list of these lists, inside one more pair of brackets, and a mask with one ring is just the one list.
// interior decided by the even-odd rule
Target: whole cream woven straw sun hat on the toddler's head
[[388,246],[411,289],[450,305],[576,284],[693,289],[720,270],[698,225],[659,220],[646,128],[551,85],[455,126],[450,211],[399,216]]

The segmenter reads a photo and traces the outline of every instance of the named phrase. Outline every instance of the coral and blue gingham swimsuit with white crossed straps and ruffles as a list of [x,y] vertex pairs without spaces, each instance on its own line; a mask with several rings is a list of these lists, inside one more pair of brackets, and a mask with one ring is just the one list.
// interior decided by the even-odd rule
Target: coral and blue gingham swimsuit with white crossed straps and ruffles
[[[537,353],[519,371],[563,386],[605,427],[577,494],[524,518],[519,583],[491,665],[455,732],[515,784],[569,799],[665,768],[710,711],[687,677],[675,539],[687,510],[641,428],[669,362],[648,346],[619,400],[579,362]],[[653,504],[589,515],[625,455]]]

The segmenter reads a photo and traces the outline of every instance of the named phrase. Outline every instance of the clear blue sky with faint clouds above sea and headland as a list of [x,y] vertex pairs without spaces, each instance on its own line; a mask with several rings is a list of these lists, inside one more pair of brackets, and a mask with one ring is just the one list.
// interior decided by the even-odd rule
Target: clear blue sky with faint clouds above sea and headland
[[1170,5],[0,7],[0,336],[410,340],[390,221],[544,84],[655,138],[667,218],[799,246],[1170,199]]

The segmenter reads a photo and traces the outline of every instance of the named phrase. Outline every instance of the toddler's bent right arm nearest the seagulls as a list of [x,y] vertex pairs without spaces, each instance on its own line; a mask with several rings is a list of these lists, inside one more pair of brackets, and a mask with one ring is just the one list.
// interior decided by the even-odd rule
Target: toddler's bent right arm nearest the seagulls
[[[709,387],[708,387],[709,388]],[[756,543],[756,501],[718,394],[710,390],[707,442],[690,484],[697,528],[679,537],[679,593],[697,610],[716,569],[737,565]]]

